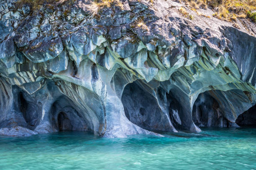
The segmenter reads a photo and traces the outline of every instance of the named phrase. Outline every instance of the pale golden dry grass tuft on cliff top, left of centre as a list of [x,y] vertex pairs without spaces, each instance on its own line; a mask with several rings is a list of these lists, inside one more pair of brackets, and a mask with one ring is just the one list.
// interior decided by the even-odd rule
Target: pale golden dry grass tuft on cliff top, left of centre
[[111,5],[118,6],[123,10],[123,4],[120,0],[101,0],[99,2],[91,2],[86,8],[93,17],[97,15],[98,11],[103,7],[111,7]]

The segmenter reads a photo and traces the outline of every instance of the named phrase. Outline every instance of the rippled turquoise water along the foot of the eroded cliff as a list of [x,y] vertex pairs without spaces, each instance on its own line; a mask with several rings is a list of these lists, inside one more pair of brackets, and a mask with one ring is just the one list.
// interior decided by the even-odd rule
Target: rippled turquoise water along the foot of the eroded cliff
[[253,170],[256,129],[98,138],[61,132],[0,137],[0,170]]

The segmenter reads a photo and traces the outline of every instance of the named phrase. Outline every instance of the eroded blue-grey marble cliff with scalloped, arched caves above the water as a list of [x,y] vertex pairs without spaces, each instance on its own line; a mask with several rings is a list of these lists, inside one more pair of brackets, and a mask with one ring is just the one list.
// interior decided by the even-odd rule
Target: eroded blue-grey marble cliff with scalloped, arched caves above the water
[[256,103],[256,37],[231,23],[164,0],[95,17],[86,0],[14,3],[0,1],[0,134],[200,132],[238,127]]

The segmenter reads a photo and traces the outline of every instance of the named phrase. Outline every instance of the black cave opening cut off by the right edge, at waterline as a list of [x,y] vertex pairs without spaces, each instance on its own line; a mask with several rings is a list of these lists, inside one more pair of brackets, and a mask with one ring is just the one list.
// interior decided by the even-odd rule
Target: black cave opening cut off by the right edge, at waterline
[[240,127],[256,127],[256,105],[239,115],[236,124]]

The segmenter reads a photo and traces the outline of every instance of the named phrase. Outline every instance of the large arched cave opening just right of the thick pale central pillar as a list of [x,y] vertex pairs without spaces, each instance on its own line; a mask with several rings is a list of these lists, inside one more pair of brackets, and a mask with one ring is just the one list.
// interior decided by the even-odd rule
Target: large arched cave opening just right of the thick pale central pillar
[[164,106],[164,94],[161,87],[152,89],[139,80],[126,85],[122,95],[125,116],[143,129],[172,132],[174,127],[169,122],[169,107]]

